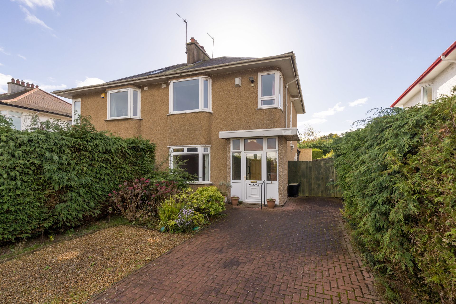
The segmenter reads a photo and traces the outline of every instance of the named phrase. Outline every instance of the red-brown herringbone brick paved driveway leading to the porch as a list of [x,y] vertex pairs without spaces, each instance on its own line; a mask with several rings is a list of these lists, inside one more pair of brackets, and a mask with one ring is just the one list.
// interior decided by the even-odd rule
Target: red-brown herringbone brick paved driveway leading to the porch
[[228,216],[89,303],[374,303],[337,199],[228,207]]

